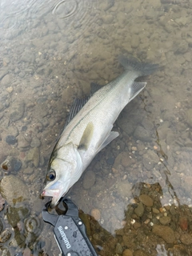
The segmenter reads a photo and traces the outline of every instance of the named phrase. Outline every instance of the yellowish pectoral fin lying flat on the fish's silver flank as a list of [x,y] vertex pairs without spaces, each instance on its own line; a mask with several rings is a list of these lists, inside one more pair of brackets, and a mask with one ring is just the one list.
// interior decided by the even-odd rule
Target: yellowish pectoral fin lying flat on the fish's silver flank
[[94,124],[93,122],[89,122],[86,126],[82,134],[81,141],[78,145],[78,150],[87,150],[90,146],[91,139],[93,138],[94,134]]

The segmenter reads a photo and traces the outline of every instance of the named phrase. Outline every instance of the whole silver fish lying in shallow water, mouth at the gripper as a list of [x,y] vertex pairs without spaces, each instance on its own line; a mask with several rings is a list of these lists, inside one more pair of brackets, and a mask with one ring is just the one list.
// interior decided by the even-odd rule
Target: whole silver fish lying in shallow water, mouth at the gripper
[[92,83],[90,97],[74,101],[50,156],[46,186],[42,190],[42,197],[52,197],[51,208],[78,182],[95,155],[118,137],[118,132],[112,130],[115,120],[146,86],[146,82],[135,82],[135,79],[158,69],[158,64],[123,55],[119,62],[124,67],[122,74],[105,86]]

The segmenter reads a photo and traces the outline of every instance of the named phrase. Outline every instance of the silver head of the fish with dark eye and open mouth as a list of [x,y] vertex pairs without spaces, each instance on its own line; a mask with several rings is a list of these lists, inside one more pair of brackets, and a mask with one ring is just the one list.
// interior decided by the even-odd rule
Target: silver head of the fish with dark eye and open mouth
[[52,197],[51,208],[57,205],[82,174],[82,158],[75,147],[61,147],[54,155],[46,173],[46,186],[42,190],[43,197]]

